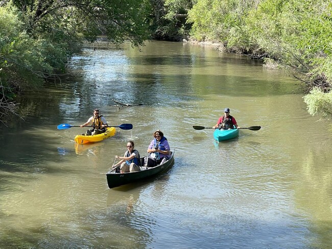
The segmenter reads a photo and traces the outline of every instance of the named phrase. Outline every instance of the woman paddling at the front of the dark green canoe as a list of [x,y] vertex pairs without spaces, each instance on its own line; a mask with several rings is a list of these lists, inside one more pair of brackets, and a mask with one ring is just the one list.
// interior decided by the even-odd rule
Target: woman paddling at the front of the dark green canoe
[[120,162],[114,164],[112,168],[116,168],[118,165],[120,166],[121,173],[124,172],[133,172],[133,171],[139,171],[139,153],[137,150],[134,150],[134,142],[128,141],[127,143],[127,150],[125,155],[123,157],[115,156],[115,159],[121,159]]

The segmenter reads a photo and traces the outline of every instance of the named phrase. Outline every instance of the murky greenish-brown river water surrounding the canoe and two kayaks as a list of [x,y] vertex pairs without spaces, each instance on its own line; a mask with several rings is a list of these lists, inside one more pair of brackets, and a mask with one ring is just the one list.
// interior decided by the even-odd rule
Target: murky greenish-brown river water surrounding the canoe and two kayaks
[[[329,248],[332,126],[302,96],[283,72],[208,47],[86,48],[61,83],[20,99],[25,121],[2,125],[0,247]],[[262,129],[218,143],[192,128],[214,126],[225,107]],[[85,129],[56,129],[94,108],[133,130],[77,146]],[[108,189],[114,156],[128,140],[146,155],[157,129],[175,148],[171,170]]]

